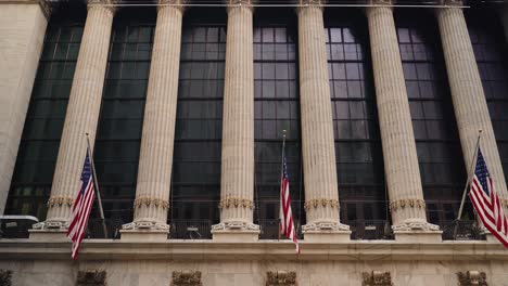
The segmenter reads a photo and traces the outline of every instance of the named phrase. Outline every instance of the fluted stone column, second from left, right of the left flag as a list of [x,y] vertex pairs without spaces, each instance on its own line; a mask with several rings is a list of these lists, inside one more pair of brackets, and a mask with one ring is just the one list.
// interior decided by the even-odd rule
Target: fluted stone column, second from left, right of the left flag
[[167,239],[183,2],[185,0],[157,2],[162,5],[157,10],[144,106],[135,217],[134,222],[123,226],[122,239]]

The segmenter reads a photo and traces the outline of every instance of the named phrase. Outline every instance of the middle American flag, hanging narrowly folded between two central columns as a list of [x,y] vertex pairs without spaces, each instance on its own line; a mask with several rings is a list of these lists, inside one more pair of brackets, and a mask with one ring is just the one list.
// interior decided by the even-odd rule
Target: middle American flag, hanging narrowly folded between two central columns
[[293,240],[296,252],[300,255],[299,238],[293,223],[293,212],[291,211],[291,198],[289,192],[288,162],[285,153],[282,151],[282,180],[280,184],[280,225],[279,232],[283,236]]

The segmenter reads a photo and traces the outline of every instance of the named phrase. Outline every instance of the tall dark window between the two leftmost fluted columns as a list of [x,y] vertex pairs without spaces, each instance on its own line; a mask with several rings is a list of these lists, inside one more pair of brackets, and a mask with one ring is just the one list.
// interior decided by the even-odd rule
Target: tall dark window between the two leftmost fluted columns
[[141,11],[115,17],[94,147],[104,216],[123,222],[132,218],[155,26],[155,13]]

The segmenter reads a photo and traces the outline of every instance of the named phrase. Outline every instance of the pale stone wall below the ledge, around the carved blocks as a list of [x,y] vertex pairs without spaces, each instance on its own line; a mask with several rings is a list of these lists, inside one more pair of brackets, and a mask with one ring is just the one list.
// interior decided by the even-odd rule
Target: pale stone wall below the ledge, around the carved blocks
[[294,271],[300,286],[361,285],[361,273],[388,271],[394,285],[455,286],[457,272],[485,272],[488,285],[507,286],[507,261],[317,261],[268,260],[14,260],[0,261],[0,269],[13,271],[13,285],[75,285],[78,271],[104,270],[107,285],[170,285],[174,271],[201,271],[206,286],[238,286],[266,283],[268,271]]

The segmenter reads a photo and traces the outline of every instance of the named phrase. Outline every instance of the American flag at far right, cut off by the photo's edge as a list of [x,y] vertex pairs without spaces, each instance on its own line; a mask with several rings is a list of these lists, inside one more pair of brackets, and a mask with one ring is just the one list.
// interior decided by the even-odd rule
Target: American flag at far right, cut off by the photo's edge
[[478,148],[477,167],[469,197],[483,225],[508,248],[508,220],[499,197],[494,191],[493,181],[480,148]]

